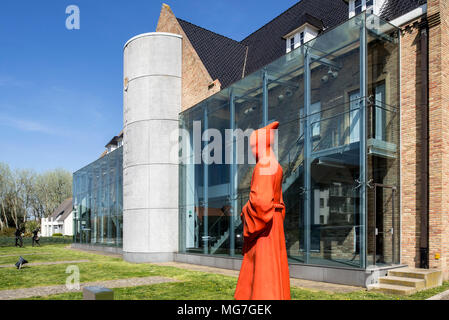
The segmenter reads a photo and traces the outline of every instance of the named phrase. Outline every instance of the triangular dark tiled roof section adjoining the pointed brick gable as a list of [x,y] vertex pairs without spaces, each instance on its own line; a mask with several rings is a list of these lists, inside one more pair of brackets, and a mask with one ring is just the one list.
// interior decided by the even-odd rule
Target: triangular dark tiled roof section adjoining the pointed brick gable
[[222,88],[242,78],[246,46],[215,32],[178,19],[212,80],[220,80]]

